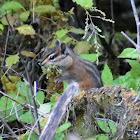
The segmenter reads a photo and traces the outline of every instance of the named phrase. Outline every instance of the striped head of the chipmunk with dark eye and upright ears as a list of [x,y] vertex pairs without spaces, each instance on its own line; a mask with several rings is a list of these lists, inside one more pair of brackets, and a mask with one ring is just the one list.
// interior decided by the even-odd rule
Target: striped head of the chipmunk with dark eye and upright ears
[[57,40],[53,48],[49,48],[45,51],[42,65],[45,67],[49,65],[67,67],[72,62],[72,58],[70,58],[67,49],[65,43],[60,43],[60,41]]

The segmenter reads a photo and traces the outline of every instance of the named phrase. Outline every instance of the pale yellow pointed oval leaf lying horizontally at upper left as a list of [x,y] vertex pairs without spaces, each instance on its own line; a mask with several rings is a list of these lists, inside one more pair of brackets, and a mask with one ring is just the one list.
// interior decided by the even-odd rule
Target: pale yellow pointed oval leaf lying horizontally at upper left
[[35,30],[33,29],[33,27],[31,25],[22,25],[16,29],[18,30],[18,32],[20,34],[23,34],[23,35],[34,35],[35,34]]

